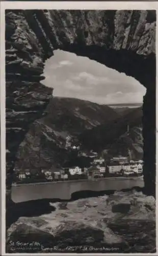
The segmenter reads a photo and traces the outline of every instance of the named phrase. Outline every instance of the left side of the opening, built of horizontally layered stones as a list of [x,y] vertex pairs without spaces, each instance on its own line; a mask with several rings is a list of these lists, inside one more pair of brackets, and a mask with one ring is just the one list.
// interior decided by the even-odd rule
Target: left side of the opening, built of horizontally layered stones
[[12,181],[16,152],[29,125],[40,118],[52,95],[40,80],[44,55],[25,16],[6,11],[6,149],[7,185]]

